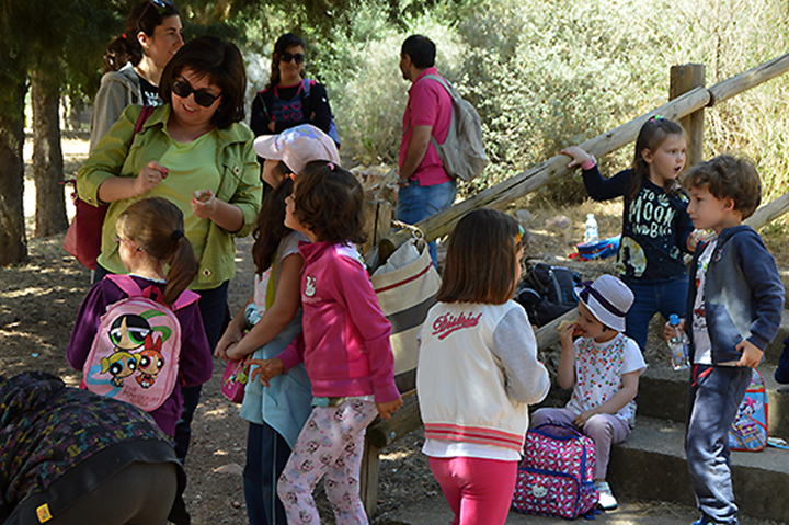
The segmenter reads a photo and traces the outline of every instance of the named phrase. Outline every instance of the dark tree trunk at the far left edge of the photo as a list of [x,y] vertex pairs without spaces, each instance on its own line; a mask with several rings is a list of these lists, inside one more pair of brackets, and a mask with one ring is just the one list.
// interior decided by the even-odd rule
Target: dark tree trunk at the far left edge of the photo
[[[5,77],[8,78],[8,77]],[[27,258],[24,210],[24,80],[3,85],[0,104],[0,267]]]

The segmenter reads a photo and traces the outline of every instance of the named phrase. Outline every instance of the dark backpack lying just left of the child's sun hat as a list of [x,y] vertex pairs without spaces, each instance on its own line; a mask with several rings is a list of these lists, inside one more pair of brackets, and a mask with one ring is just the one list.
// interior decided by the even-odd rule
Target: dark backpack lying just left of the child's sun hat
[[515,293],[515,300],[528,313],[529,322],[542,327],[578,306],[574,287],[581,275],[564,266],[535,264]]

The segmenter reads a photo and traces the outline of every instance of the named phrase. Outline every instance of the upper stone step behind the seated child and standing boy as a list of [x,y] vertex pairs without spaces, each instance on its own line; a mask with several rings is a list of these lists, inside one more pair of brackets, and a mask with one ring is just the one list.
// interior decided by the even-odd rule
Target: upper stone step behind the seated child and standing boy
[[[759,365],[767,387],[767,422],[770,435],[789,440],[789,385],[779,385],[776,367]],[[638,416],[685,422],[689,372],[676,372],[667,363],[650,365],[639,380]]]

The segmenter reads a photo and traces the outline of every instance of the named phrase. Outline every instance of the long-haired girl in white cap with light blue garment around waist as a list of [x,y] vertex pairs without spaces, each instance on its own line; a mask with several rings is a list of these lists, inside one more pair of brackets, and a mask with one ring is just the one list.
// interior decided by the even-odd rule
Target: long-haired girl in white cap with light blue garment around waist
[[[274,357],[301,333],[299,278],[304,259],[298,244],[308,239],[285,226],[285,198],[293,193],[295,174],[307,162],[340,163],[334,141],[309,124],[259,137],[254,149],[265,159],[262,179],[266,183],[253,232],[254,289],[215,352],[217,357],[232,362],[248,355],[258,359]],[[286,523],[276,481],[312,411],[311,401],[309,378],[301,365],[273,378],[268,387],[260,381],[247,384],[239,415],[249,421],[243,477],[252,525]]]

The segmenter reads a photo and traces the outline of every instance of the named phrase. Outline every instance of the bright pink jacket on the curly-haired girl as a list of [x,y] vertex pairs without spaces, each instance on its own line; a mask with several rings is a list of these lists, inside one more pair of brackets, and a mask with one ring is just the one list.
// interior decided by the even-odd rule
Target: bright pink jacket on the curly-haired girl
[[391,324],[358,253],[331,242],[301,242],[299,250],[304,332],[278,355],[285,369],[304,362],[316,397],[395,401]]

